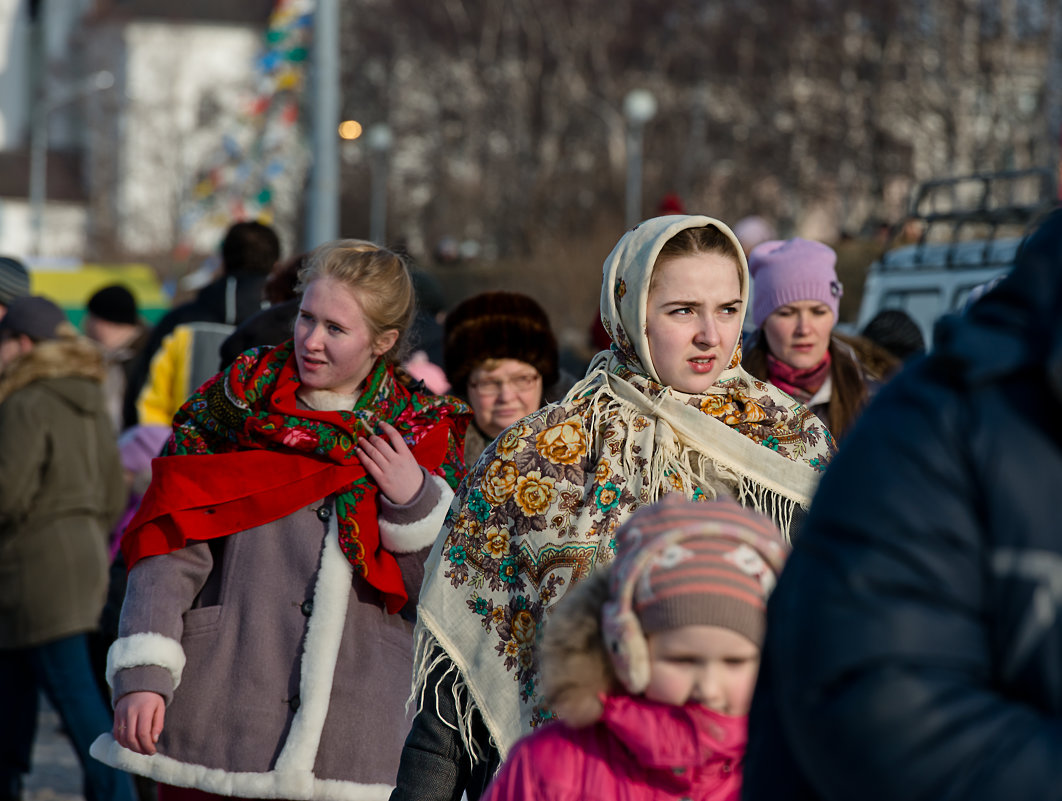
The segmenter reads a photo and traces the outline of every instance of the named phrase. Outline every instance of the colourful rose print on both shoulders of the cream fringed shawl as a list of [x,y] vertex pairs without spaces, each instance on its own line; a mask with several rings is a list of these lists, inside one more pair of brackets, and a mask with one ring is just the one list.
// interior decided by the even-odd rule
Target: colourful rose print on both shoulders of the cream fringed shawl
[[[661,389],[648,385],[647,392]],[[789,458],[829,437],[803,406],[803,416],[794,419],[766,392],[757,396],[755,385],[751,389],[751,394],[738,387],[730,394],[689,396],[687,403]],[[613,531],[650,501],[648,485],[639,480],[648,470],[646,459],[634,457],[640,467],[635,476],[620,468],[628,441],[620,417],[602,425],[600,455],[590,462],[589,403],[587,395],[549,406],[507,429],[462,483],[444,527],[444,576],[455,589],[465,590],[468,612],[494,634],[494,650],[525,702],[536,699],[534,638],[544,611],[568,583],[584,578],[599,561],[611,561]],[[636,433],[649,425],[644,416],[635,417],[632,428]],[[685,492],[680,476],[669,478],[672,491]],[[700,488],[691,496],[706,499]],[[546,535],[529,536],[533,532]],[[535,708],[532,725],[544,717],[548,713]]]

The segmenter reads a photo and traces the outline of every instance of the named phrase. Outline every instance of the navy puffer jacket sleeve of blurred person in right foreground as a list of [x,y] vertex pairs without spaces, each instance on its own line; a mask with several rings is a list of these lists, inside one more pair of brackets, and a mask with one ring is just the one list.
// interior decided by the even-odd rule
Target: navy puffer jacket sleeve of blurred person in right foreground
[[[1050,526],[1037,510],[1062,484],[974,400],[897,380],[829,466],[769,604],[747,801],[810,797],[764,779],[778,764],[827,801],[1062,799],[1062,720],[1000,679],[1000,593],[1021,589],[990,552]],[[973,453],[992,426],[1008,432]]]

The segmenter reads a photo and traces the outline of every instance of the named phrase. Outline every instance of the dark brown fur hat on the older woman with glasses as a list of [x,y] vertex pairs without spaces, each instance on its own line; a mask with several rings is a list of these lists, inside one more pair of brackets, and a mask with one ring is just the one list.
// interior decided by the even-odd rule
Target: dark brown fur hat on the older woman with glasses
[[556,339],[549,318],[517,292],[482,292],[446,316],[443,365],[453,391],[466,395],[468,376],[487,359],[518,359],[542,374],[543,387],[558,378]]

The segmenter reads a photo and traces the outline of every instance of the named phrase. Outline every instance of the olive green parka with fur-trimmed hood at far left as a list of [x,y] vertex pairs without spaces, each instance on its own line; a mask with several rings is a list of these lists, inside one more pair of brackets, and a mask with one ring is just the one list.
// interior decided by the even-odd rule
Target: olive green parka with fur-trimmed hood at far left
[[97,627],[126,498],[103,375],[96,346],[73,336],[0,373],[0,648]]

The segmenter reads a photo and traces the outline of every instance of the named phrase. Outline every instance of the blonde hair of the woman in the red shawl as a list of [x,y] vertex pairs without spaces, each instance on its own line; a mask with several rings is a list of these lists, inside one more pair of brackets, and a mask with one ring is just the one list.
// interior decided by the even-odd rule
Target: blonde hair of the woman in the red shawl
[[363,239],[337,239],[309,254],[298,271],[295,293],[302,295],[310,284],[325,277],[354,292],[374,340],[384,331],[398,331],[383,358],[392,364],[399,362],[416,311],[413,278],[405,258]]

